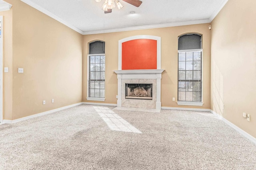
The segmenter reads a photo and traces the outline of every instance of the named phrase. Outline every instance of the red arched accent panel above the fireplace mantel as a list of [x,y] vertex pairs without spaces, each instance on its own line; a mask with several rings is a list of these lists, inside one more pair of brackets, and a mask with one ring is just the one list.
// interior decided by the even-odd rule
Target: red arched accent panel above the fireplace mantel
[[157,41],[134,39],[122,43],[122,70],[156,69]]

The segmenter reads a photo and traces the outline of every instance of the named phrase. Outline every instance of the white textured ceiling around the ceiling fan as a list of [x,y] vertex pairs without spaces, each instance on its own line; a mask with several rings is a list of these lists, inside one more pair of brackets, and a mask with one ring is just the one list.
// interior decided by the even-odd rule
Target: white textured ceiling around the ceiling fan
[[93,34],[209,23],[228,0],[142,0],[138,8],[120,0],[124,7],[115,7],[110,14],[101,9],[104,0],[21,1],[82,34]]

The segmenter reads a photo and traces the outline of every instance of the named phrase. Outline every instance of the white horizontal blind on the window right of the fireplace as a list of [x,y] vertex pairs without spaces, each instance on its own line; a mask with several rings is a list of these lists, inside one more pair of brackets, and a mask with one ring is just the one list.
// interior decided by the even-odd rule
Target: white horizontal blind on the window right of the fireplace
[[178,51],[178,102],[202,102],[202,50]]

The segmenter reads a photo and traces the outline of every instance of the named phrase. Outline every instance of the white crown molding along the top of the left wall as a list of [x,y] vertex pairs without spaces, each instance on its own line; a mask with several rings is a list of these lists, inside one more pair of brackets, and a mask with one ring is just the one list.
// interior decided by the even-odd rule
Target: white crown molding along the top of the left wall
[[22,2],[28,4],[29,6],[32,6],[33,8],[37,9],[38,11],[48,15],[49,17],[53,18],[54,20],[59,21],[60,23],[66,25],[67,27],[70,27],[71,29],[73,29],[74,31],[83,34],[83,31],[78,29],[77,27],[74,27],[73,25],[67,23],[66,21],[62,20],[61,18],[59,18],[58,16],[52,14],[51,12],[49,12],[48,10],[45,10],[44,8],[38,6],[37,4],[35,4],[34,2],[32,2],[31,0],[21,0]]

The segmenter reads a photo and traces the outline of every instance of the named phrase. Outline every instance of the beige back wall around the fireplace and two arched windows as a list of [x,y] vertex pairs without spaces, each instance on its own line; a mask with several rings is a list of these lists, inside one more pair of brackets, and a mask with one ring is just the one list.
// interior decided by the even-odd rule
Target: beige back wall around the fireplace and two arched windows
[[[118,40],[134,35],[154,35],[161,37],[162,45],[162,106],[166,107],[194,107],[177,105],[177,70],[178,70],[178,36],[184,33],[201,33],[203,36],[203,102],[202,107],[210,109],[210,39],[211,32],[208,23],[186,25],[180,27],[166,27],[117,33],[84,35],[83,37],[83,102],[87,101],[87,55],[88,42],[93,40],[105,41],[106,52],[106,100],[104,103],[116,104],[117,75],[113,70],[118,70]],[[172,98],[176,101],[173,102]]]

